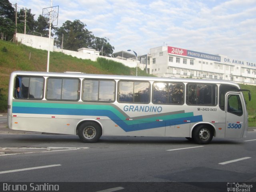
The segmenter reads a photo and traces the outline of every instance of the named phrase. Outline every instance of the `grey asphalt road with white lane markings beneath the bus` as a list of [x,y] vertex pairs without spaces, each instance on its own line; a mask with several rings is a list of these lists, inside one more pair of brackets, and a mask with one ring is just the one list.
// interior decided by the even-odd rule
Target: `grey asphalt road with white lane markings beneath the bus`
[[[107,182],[90,183],[91,191],[134,191],[132,186],[151,191],[166,182],[224,182],[214,186],[223,185],[227,191],[227,182],[256,182],[255,144],[256,131],[242,139],[214,138],[208,145],[185,138],[105,136],[88,144],[78,136],[0,134],[0,181]],[[196,186],[185,184],[190,189]],[[86,186],[84,191],[90,191]],[[254,190],[256,184],[250,189]]]

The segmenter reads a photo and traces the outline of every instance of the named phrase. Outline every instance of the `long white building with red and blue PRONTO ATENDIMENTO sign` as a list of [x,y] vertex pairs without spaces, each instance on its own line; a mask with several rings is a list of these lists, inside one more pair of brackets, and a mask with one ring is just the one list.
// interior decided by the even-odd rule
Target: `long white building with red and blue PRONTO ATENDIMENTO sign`
[[256,63],[161,46],[150,49],[148,72],[159,77],[223,79],[256,85]]

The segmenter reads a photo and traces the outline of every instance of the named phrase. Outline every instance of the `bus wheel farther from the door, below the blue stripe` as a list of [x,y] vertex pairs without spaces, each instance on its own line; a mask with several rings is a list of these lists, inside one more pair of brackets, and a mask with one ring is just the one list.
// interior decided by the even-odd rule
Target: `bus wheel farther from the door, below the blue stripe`
[[102,129],[96,122],[84,122],[78,128],[78,136],[82,142],[97,142],[101,135]]

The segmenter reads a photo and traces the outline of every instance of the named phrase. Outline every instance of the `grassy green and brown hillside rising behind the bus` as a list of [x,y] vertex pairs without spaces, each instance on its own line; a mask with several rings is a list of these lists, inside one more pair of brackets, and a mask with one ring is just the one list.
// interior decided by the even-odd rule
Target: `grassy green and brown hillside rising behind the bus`
[[[0,112],[6,111],[9,76],[12,71],[46,71],[47,51],[0,40]],[[50,72],[85,72],[89,74],[135,75],[136,68],[99,58],[97,62],[82,60],[59,52],[50,53]],[[138,76],[148,76],[138,68]],[[256,115],[256,86],[240,84],[242,89],[251,90],[252,100],[245,98],[251,118]],[[256,126],[256,125],[255,125]]]

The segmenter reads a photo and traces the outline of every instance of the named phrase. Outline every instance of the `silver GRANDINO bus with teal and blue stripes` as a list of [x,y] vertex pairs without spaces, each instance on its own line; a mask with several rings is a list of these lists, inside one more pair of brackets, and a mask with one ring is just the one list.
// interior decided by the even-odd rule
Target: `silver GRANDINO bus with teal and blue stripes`
[[239,85],[224,80],[25,72],[10,75],[8,127],[101,136],[244,138],[248,112]]

